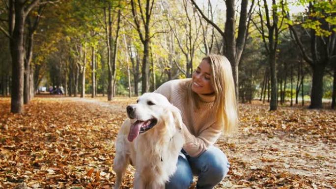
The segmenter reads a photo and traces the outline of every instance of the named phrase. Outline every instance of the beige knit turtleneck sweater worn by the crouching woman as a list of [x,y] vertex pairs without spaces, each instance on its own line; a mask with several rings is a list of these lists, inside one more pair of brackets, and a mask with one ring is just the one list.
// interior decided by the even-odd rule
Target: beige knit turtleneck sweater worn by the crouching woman
[[192,157],[202,154],[221,135],[222,127],[216,122],[212,111],[215,95],[199,95],[198,108],[187,96],[191,79],[172,80],[162,84],[156,91],[181,110],[185,143],[183,149]]

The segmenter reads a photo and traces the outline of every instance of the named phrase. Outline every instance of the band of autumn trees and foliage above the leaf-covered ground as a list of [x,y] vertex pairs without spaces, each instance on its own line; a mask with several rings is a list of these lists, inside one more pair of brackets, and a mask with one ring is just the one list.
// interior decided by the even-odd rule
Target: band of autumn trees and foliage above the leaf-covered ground
[[42,86],[138,96],[190,78],[206,54],[230,60],[242,103],[335,108],[332,0],[0,3],[0,94],[12,94],[13,112]]

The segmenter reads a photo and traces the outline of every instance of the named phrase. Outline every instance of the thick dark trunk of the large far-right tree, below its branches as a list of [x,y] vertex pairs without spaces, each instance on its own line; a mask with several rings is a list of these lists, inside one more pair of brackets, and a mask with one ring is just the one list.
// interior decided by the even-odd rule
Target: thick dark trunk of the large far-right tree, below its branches
[[312,67],[313,75],[309,108],[322,108],[324,65],[316,63]]

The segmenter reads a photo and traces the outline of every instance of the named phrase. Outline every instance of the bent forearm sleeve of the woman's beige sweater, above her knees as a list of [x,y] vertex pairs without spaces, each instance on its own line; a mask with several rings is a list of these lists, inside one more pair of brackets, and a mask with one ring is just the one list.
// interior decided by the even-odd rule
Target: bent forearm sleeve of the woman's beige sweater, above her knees
[[205,129],[197,137],[189,132],[187,127],[183,125],[184,145],[183,149],[191,156],[198,157],[209,146],[213,145],[222,133],[220,124],[214,123],[209,128]]

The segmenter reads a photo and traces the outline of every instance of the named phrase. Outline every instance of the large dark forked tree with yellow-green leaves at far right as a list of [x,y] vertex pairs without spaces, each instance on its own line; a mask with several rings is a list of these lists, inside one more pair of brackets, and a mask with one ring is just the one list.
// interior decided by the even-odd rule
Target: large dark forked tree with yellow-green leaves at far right
[[[309,108],[322,108],[325,68],[329,63],[336,61],[335,10],[336,4],[333,1],[309,1],[307,15],[302,18],[304,23],[300,21],[294,25],[293,21],[288,22],[303,58],[312,69]],[[287,15],[289,18],[289,13]],[[306,35],[306,29],[308,29],[308,35]],[[303,36],[309,39],[308,50],[303,45]]]

